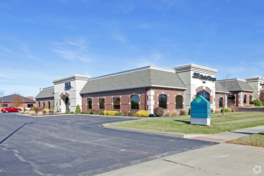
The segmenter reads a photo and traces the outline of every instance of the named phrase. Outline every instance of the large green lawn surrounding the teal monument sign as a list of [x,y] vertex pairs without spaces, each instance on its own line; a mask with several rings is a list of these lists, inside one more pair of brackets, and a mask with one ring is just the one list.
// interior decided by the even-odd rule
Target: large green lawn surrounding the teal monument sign
[[110,123],[109,126],[180,134],[216,134],[264,125],[264,112],[231,112],[211,114],[211,126],[190,125],[190,116],[142,119]]

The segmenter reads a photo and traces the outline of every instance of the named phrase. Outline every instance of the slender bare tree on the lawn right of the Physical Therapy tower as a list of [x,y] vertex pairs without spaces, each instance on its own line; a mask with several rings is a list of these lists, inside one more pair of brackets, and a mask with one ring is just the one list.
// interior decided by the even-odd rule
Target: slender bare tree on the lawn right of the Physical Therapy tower
[[[224,108],[226,107],[226,105],[228,103],[234,103],[233,100],[228,100],[227,96],[228,94],[231,94],[229,93],[228,89],[230,89],[230,82],[228,81],[228,78],[230,77],[231,73],[226,73],[225,76],[223,76],[223,80],[224,81],[221,81],[222,83],[220,84],[221,85],[221,89],[222,89],[222,92],[221,93],[222,95],[224,95],[224,101],[223,101],[223,114],[222,116],[224,116]],[[231,83],[232,84],[232,83]]]

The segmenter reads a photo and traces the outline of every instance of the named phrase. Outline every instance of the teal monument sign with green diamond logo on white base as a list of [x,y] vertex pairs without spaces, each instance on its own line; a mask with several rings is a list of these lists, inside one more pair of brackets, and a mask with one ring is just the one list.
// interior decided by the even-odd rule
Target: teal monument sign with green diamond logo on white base
[[210,120],[210,102],[199,95],[191,102],[191,124],[210,125]]

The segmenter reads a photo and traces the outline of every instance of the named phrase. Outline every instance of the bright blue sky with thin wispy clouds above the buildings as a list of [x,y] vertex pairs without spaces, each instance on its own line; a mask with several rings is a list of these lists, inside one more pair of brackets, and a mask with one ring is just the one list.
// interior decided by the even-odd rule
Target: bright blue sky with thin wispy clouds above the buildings
[[[194,63],[222,79],[264,74],[264,1],[0,2],[0,90],[36,96],[52,80]],[[118,83],[117,83],[118,84]]]

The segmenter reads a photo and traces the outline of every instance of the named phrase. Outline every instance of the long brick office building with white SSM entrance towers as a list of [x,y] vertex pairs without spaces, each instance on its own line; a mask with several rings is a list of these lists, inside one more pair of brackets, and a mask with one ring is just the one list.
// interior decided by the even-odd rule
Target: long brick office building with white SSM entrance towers
[[198,95],[210,101],[212,110],[221,108],[225,82],[230,84],[226,92],[228,106],[245,107],[257,98],[258,84],[263,84],[260,77],[216,81],[216,73],[216,69],[186,64],[174,69],[145,66],[93,78],[72,75],[54,80],[54,87],[44,88],[35,98],[37,106],[46,107],[50,102],[58,112],[75,112],[79,104],[82,111],[147,110],[153,114],[155,107],[188,110]]

